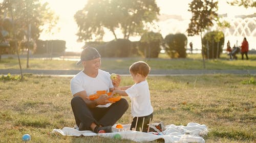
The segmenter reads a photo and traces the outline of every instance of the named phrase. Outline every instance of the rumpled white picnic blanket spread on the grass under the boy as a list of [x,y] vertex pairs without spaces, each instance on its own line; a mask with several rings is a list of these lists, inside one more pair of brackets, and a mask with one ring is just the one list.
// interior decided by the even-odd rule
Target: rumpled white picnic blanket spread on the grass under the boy
[[[157,123],[155,123],[157,124]],[[53,129],[53,133],[60,133],[68,136],[101,136],[114,138],[116,134],[120,134],[122,139],[130,139],[136,142],[147,142],[156,139],[164,139],[164,142],[200,142],[204,143],[203,136],[207,135],[206,125],[198,123],[188,123],[186,126],[167,125],[166,130],[155,134],[153,132],[145,133],[139,131],[131,131],[131,124],[123,125],[123,129],[112,126],[112,133],[94,133],[92,131],[79,131],[76,128],[65,127],[63,129]]]

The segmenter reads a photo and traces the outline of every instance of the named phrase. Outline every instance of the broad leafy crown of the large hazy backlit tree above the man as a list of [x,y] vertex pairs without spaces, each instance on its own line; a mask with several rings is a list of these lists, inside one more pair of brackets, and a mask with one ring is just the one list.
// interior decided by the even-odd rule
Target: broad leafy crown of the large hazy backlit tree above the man
[[145,32],[144,25],[157,19],[159,7],[155,0],[89,0],[76,12],[78,40],[102,40],[104,29],[118,39],[116,30],[121,30],[124,39]]

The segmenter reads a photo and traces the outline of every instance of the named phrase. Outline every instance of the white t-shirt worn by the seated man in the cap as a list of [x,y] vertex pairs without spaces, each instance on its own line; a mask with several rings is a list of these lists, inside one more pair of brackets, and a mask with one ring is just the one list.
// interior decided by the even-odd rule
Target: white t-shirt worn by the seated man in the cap
[[[103,70],[99,70],[99,73],[95,78],[88,76],[83,71],[80,71],[70,81],[72,95],[81,91],[86,91],[86,94],[89,97],[97,91],[109,91],[110,88],[113,88],[110,73]],[[108,107],[110,105],[111,103],[108,103],[105,105],[98,105],[97,107]]]

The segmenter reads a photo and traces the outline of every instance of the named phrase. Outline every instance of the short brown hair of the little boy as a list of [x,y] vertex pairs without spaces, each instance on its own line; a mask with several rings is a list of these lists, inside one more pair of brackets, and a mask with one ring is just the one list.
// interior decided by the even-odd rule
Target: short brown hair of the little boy
[[130,72],[133,74],[138,73],[146,77],[148,73],[150,73],[150,66],[148,66],[147,63],[143,61],[138,61],[133,63],[133,65],[130,66]]

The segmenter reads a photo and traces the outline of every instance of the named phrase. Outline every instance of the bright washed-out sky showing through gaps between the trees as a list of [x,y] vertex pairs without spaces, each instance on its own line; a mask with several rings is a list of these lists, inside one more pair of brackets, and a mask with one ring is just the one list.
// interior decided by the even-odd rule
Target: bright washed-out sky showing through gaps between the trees
[[[75,36],[75,33],[77,32],[77,24],[74,21],[74,14],[78,9],[82,9],[84,5],[87,3],[87,1],[45,1],[49,3],[49,6],[56,12],[56,14],[59,15],[59,23],[58,27],[60,27],[60,30],[56,30],[56,33],[54,35],[49,35],[47,33],[42,33],[40,38],[42,40],[51,40],[51,39],[58,39],[58,40],[65,40],[66,43],[66,51],[81,51],[84,43],[83,42],[76,42],[77,36]],[[157,0],[156,3],[158,7],[160,8],[160,15],[159,15],[159,21],[156,21],[156,24],[159,25],[160,33],[163,37],[170,33],[185,33],[189,19],[191,18],[191,12],[188,12],[188,4],[191,2],[191,0],[185,0],[185,1],[179,1],[175,2],[172,0],[168,1],[162,1]],[[238,26],[239,21],[241,21],[241,17],[244,15],[251,15],[254,14],[256,9],[255,8],[244,8],[242,6],[231,6],[230,4],[227,4],[227,1],[218,1],[218,13],[220,15],[224,15],[224,19],[229,20],[229,22],[235,24],[233,26]],[[61,7],[59,7],[59,4],[61,3]],[[254,18],[251,18],[254,22],[254,29],[256,25],[255,15]],[[241,26],[241,25],[239,25]],[[247,26],[247,25],[245,25]],[[228,28],[226,28],[228,29]],[[243,37],[247,37],[247,40],[250,44],[250,50],[256,49],[256,30],[253,31],[254,34],[247,33],[244,34],[243,28],[240,28],[239,33],[228,33],[225,35],[225,43],[226,45],[227,41],[230,40],[230,45],[233,46],[233,44],[240,45],[243,41]],[[246,31],[247,32],[247,31]],[[201,41],[200,36],[193,36],[193,37],[187,37],[188,38],[188,44],[189,42],[193,42],[194,49],[201,49]],[[103,37],[103,41],[111,41],[114,39],[114,36],[110,32],[106,32],[106,35]],[[138,41],[140,39],[139,36],[137,37],[131,37],[131,41]],[[238,43],[237,43],[238,41]],[[189,48],[189,45],[187,45],[187,48]],[[196,51],[195,51],[196,52]]]

